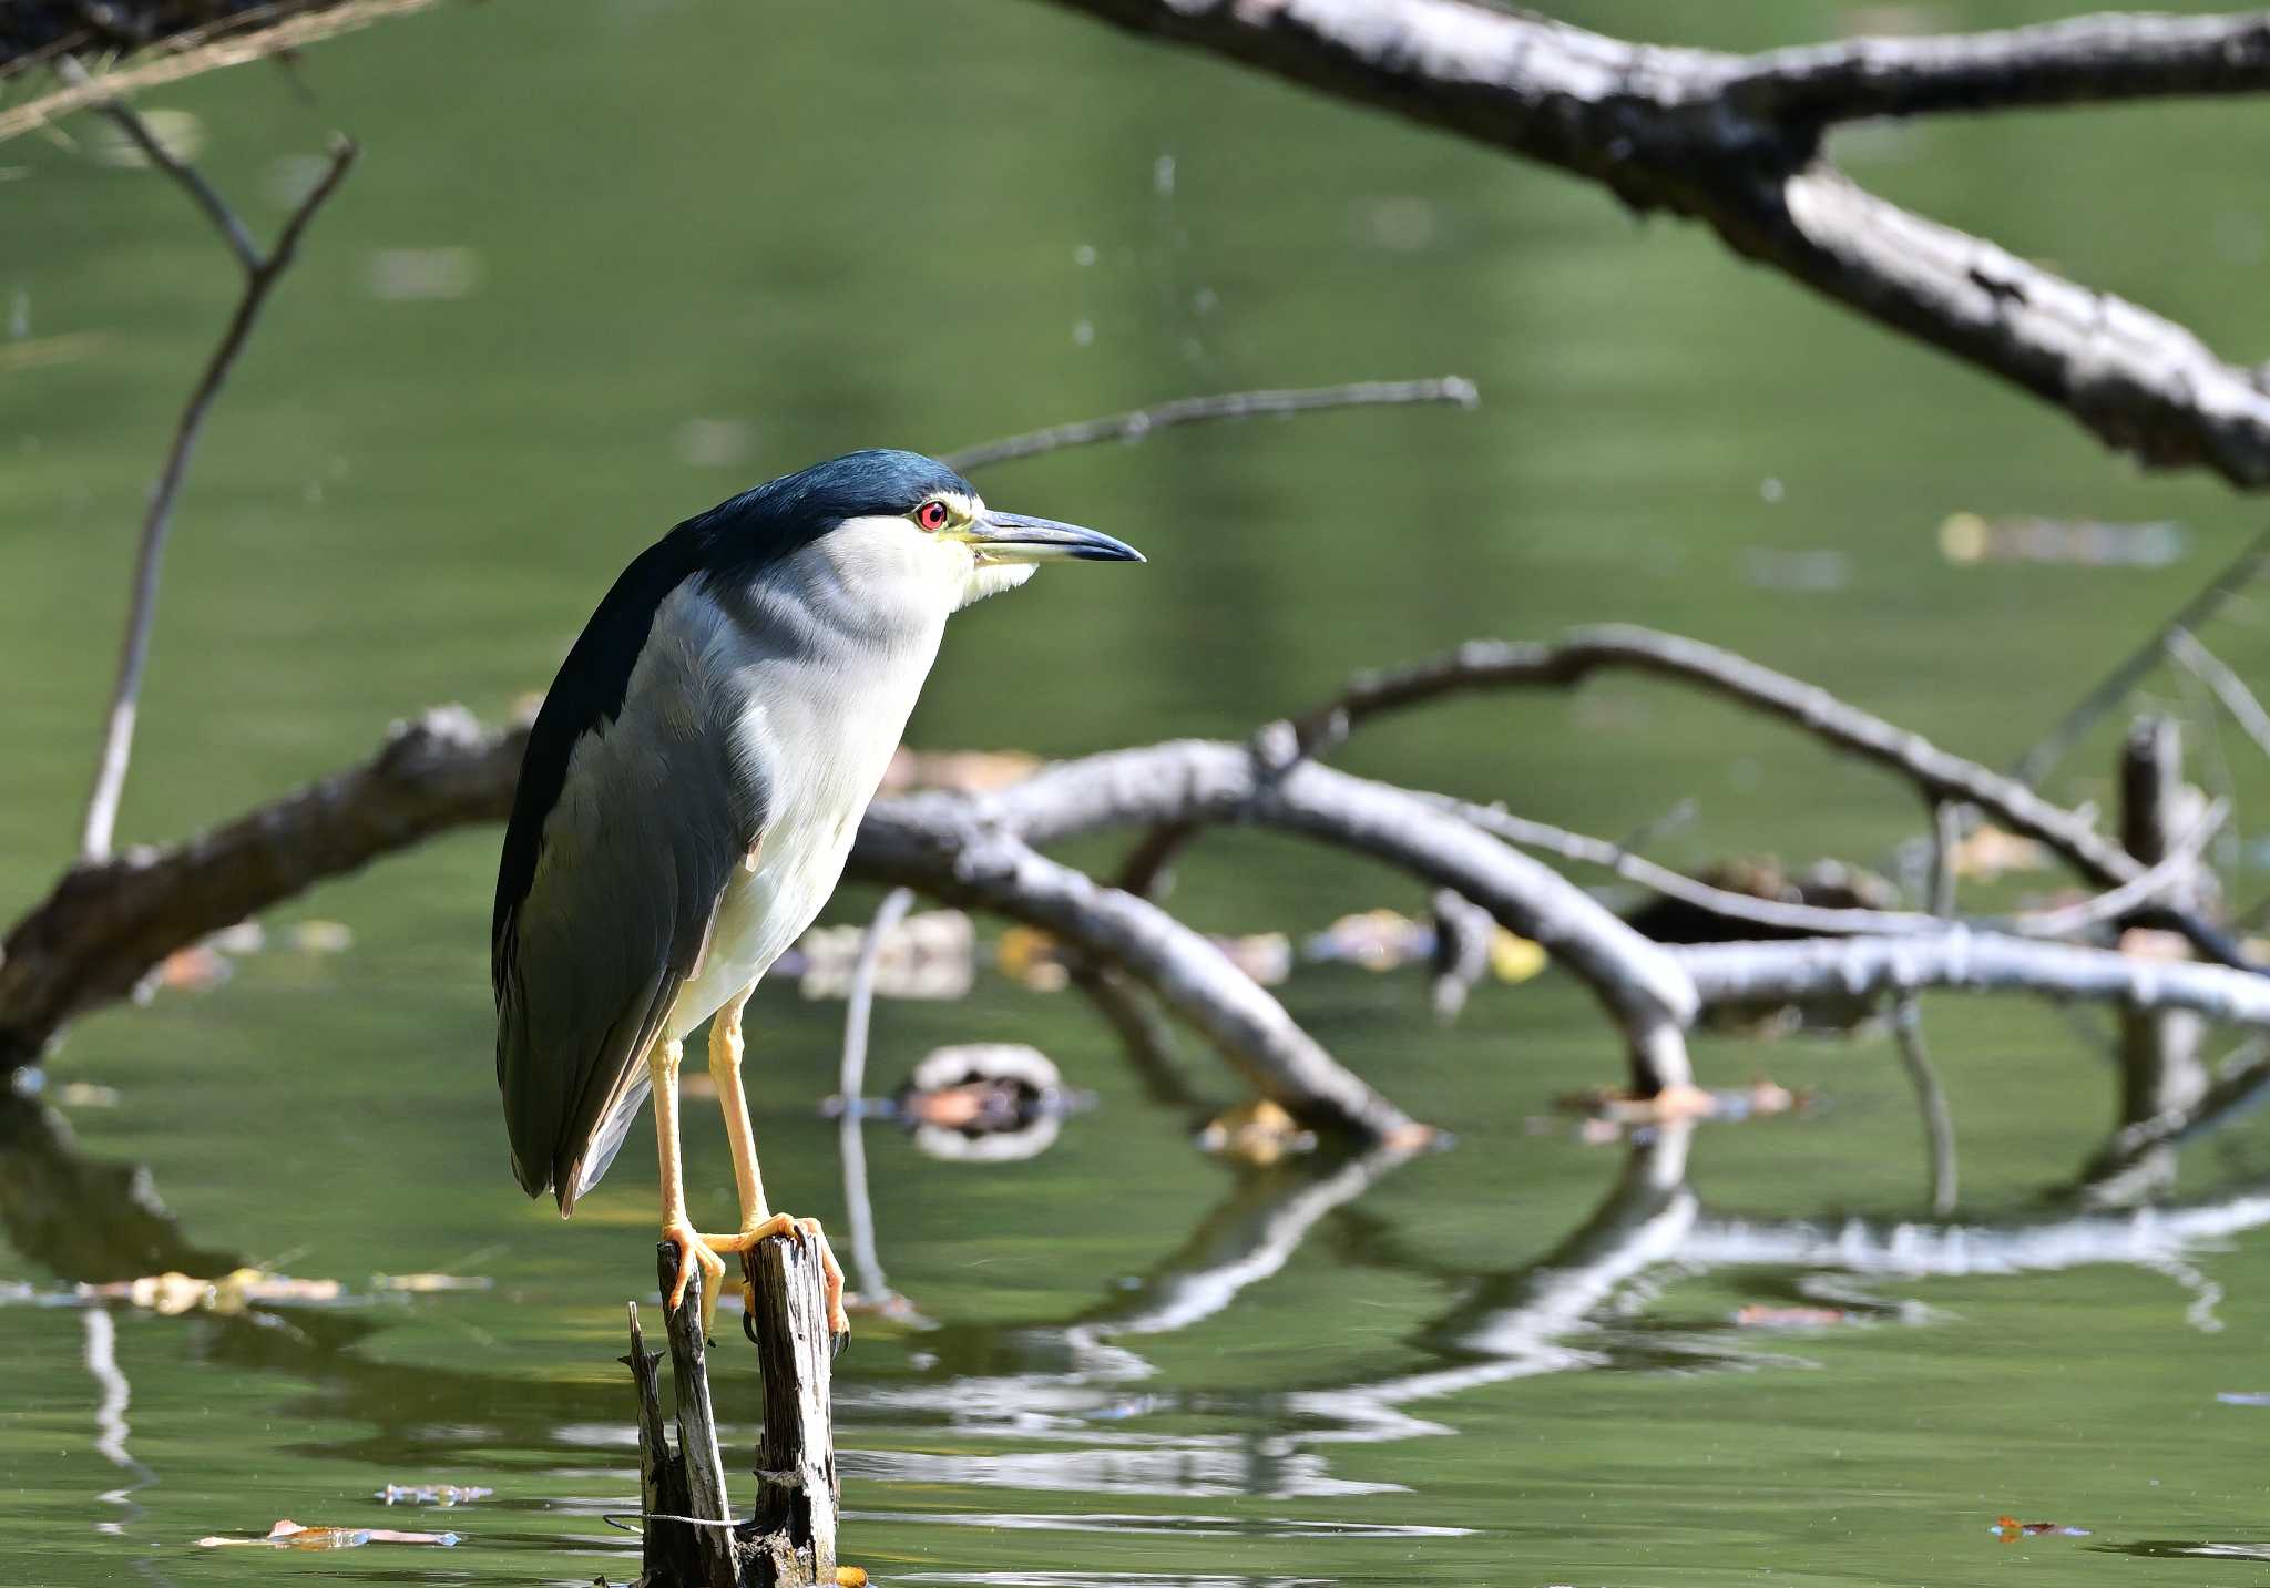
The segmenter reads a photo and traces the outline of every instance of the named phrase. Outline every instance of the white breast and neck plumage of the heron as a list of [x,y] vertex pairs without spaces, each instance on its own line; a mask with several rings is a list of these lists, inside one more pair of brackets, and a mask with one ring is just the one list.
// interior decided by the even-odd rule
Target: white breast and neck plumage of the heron
[[953,569],[928,551],[906,520],[872,531],[856,520],[738,601],[672,597],[672,619],[706,631],[713,730],[765,789],[765,828],[726,885],[670,1037],[772,969],[835,892],[958,594],[960,576],[949,583]]

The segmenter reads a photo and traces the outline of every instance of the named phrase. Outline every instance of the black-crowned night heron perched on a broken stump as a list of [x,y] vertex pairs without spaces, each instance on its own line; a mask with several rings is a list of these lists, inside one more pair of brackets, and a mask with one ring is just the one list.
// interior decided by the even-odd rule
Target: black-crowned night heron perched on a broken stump
[[[1037,563],[1140,563],[1092,529],[987,508],[913,451],[854,451],[686,520],[599,601],[529,733],[497,867],[490,985],[513,1173],[561,1216],[654,1091],[663,1239],[715,1302],[717,1252],[819,1243],[774,1214],[740,1084],[740,1014],[813,923],[938,656],[947,617]],[[740,1230],[697,1234],[679,1059],[711,1023]],[[704,1329],[708,1318],[704,1318]]]

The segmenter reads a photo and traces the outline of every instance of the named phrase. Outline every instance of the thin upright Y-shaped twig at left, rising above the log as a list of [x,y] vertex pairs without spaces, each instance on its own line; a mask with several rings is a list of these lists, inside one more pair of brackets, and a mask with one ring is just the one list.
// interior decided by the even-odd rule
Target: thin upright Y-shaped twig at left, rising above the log
[[[138,118],[125,104],[114,104],[111,113],[129,129],[138,125]],[[157,147],[148,127],[141,127],[136,141],[143,138],[148,138],[148,147]],[[182,408],[173,447],[166,451],[166,465],[159,472],[157,488],[150,492],[141,547],[134,554],[134,597],[127,608],[127,631],[118,653],[118,683],[111,690],[111,710],[102,730],[102,755],[95,762],[95,787],[86,796],[86,821],[79,830],[82,862],[107,860],[111,853],[111,835],[118,828],[118,801],[127,783],[127,760],[134,753],[134,715],[141,706],[143,669],[150,660],[150,628],[157,619],[157,588],[166,560],[166,538],[173,531],[173,506],[182,495],[182,481],[188,476],[188,461],[197,447],[197,433],[204,429],[204,415],[211,411],[213,397],[220,395],[222,381],[229,379],[236,356],[245,349],[245,340],[252,336],[252,327],[268,304],[270,288],[291,268],[293,256],[300,252],[300,238],[316,218],[316,211],[345,181],[347,170],[354,166],[354,154],[356,147],[352,141],[336,138],[331,143],[331,163],[316,186],[309,188],[306,197],[300,200],[300,206],[293,209],[291,220],[284,222],[284,231],[266,256],[259,252],[247,254],[250,238],[243,236],[243,225],[234,220],[227,204],[220,204],[220,197],[188,166],[170,157],[159,159],[159,168],[184,181],[191,197],[213,216],[222,236],[229,238],[232,252],[245,263],[245,290],[236,302],[236,313],[229,315],[229,327],[222,331],[220,345],[197,379],[197,388],[188,395],[188,406]]]

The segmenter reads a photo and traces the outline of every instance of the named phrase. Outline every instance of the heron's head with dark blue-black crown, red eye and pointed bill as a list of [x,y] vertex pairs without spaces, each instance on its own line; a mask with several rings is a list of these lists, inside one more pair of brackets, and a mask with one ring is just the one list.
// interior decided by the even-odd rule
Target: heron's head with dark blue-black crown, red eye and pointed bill
[[1101,531],[1001,513],[919,451],[849,451],[758,485],[717,515],[726,515],[722,533],[767,563],[817,556],[847,585],[942,601],[949,613],[1022,585],[1042,563],[1144,560]]

